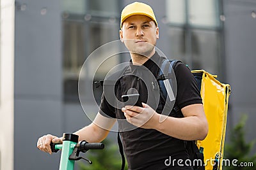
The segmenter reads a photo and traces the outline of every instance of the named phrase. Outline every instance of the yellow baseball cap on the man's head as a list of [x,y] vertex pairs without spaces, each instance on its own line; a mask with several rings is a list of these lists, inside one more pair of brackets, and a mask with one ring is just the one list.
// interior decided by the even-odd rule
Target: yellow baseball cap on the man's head
[[[156,22],[154,11],[148,4],[135,2],[135,3],[128,4],[127,6],[125,6],[124,10],[122,10],[121,22],[120,22],[121,29],[122,29],[124,20],[126,20],[128,17],[131,17],[132,15],[145,15],[151,18],[152,20],[154,20],[154,22]],[[156,22],[156,26],[157,26],[157,22]]]

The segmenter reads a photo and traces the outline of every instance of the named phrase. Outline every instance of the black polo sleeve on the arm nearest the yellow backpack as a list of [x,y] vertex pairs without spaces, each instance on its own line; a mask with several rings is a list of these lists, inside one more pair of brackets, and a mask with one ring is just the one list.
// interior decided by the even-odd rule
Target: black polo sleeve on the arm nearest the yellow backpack
[[182,109],[191,104],[202,104],[198,85],[189,68],[185,64],[178,62],[174,71],[177,80],[177,106]]

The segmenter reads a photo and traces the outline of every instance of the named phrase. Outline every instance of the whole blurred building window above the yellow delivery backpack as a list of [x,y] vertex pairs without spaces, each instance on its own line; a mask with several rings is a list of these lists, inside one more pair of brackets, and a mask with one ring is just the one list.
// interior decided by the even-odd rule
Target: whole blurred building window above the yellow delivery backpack
[[220,1],[166,0],[170,53],[191,69],[221,71]]

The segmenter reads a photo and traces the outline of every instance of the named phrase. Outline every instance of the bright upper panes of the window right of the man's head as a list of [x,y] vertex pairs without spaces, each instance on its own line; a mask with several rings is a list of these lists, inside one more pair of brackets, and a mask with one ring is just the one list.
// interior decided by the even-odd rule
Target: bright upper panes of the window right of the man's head
[[216,0],[166,0],[166,18],[177,25],[218,27],[218,6]]

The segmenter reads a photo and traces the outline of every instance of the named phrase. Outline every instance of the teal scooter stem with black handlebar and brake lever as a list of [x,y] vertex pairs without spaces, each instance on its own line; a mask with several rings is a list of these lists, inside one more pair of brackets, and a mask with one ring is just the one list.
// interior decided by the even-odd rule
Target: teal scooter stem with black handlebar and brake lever
[[91,149],[103,149],[102,143],[88,143],[86,141],[78,142],[79,136],[76,134],[63,134],[63,144],[51,143],[52,152],[61,150],[60,169],[59,170],[74,170],[75,161],[84,159],[92,164],[92,161],[79,157],[80,152],[87,152]]

